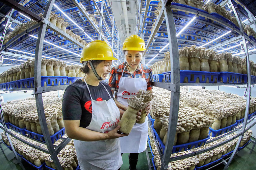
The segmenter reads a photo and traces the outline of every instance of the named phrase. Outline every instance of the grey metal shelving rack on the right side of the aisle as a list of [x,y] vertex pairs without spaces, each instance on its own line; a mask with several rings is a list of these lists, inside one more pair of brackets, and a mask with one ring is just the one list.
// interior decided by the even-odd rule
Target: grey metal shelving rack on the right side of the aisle
[[[176,6],[176,5],[171,5],[172,0],[162,0],[162,10],[160,11],[160,14],[158,17],[155,15],[150,15],[151,12],[154,12],[152,7],[157,6],[157,4],[150,4],[149,0],[147,1],[140,1],[138,2],[138,14],[139,14],[139,23],[140,26],[137,27],[137,32],[139,35],[141,35],[142,38],[144,38],[144,41],[146,43],[146,49],[147,52],[144,53],[143,57],[145,57],[145,63],[148,65],[149,63],[154,63],[156,61],[159,61],[163,58],[164,53],[169,51],[170,52],[170,57],[171,57],[171,83],[157,83],[153,82],[153,86],[165,88],[167,90],[171,91],[171,101],[170,101],[170,115],[169,115],[169,126],[168,126],[168,134],[167,134],[167,140],[166,140],[166,145],[165,145],[165,151],[164,154],[162,154],[161,149],[159,148],[158,145],[157,149],[159,151],[161,161],[162,161],[162,166],[161,170],[167,169],[168,168],[168,163],[170,161],[176,161],[180,159],[185,159],[188,157],[192,157],[204,152],[207,152],[209,150],[212,150],[214,148],[217,148],[227,142],[232,141],[235,138],[239,138],[238,143],[235,147],[235,150],[232,154],[232,156],[229,158],[228,162],[225,160],[222,160],[221,163],[225,165],[224,169],[227,169],[229,164],[234,158],[234,155],[237,153],[239,144],[243,138],[244,132],[249,130],[253,125],[256,124],[255,118],[251,119],[249,122],[248,120],[248,113],[249,113],[249,104],[250,104],[250,94],[251,94],[251,81],[250,81],[250,64],[249,64],[249,54],[255,54],[256,50],[253,50],[256,48],[256,43],[253,42],[247,35],[244,34],[243,27],[242,27],[242,22],[241,22],[241,16],[237,14],[237,9],[234,8],[234,5],[230,0],[227,1],[229,8],[232,8],[235,14],[235,17],[239,23],[239,28],[238,27],[233,27],[222,20],[219,20],[216,17],[213,17],[212,15],[206,14],[204,12],[194,10],[194,9],[189,9],[181,6]],[[145,8],[145,11],[141,12],[141,9]],[[188,12],[190,14],[193,14],[192,16],[196,16],[197,18],[194,19],[194,22],[192,22],[191,25],[187,25],[190,20],[192,20],[192,16],[182,16],[182,15],[177,15],[173,14],[173,11],[178,10],[178,11],[183,11],[183,12]],[[144,12],[144,13],[143,13]],[[149,15],[148,15],[149,14]],[[198,18],[198,17],[201,17]],[[218,26],[207,22],[203,21],[202,17],[205,18],[205,20],[210,19],[211,21],[216,22],[219,24]],[[152,28],[152,23],[153,19],[157,18],[155,26],[153,28],[153,31],[151,32],[150,29]],[[175,20],[181,20],[183,22],[175,23]],[[163,22],[165,21],[165,22]],[[202,27],[200,24],[207,24],[211,29],[201,29]],[[176,32],[178,33],[182,28],[186,27],[183,32],[180,35],[185,35],[185,36],[193,36],[197,37],[197,40],[189,40],[189,39],[182,39],[181,37],[176,36]],[[201,28],[200,28],[201,27]],[[159,28],[165,28],[165,30],[159,30]],[[139,32],[141,30],[141,32]],[[176,30],[172,31],[172,30]],[[230,31],[231,30],[231,31]],[[195,34],[196,31],[199,31],[201,34]],[[230,31],[230,32],[229,32]],[[229,33],[227,33],[229,32]],[[140,34],[141,33],[141,34]],[[167,34],[165,37],[158,36],[157,33],[164,33]],[[223,36],[222,39],[219,39],[217,37],[223,35],[224,33],[226,36]],[[200,41],[202,39],[205,39],[206,41]],[[216,39],[217,38],[217,39]],[[208,43],[212,39],[215,40],[215,44]],[[248,42],[247,42],[248,41]],[[246,43],[247,42],[247,43]],[[207,44],[206,44],[207,43]],[[240,47],[237,46],[235,48],[230,48],[232,46],[236,46],[238,44],[241,44]],[[206,143],[210,143],[213,141],[216,141],[220,138],[223,138],[224,136],[227,136],[231,133],[236,133],[235,137],[229,138],[228,140],[225,140],[224,142],[219,143],[218,145],[214,145],[211,147],[208,147],[206,149],[196,151],[196,152],[191,152],[189,154],[185,154],[182,156],[177,156],[177,157],[172,157],[170,158],[172,148],[173,148],[173,143],[174,143],[174,137],[175,137],[175,132],[176,132],[176,126],[177,126],[177,119],[178,119],[178,110],[179,110],[179,94],[180,94],[180,86],[185,86],[185,85],[194,85],[194,86],[207,86],[207,85],[244,85],[244,84],[223,84],[223,83],[180,83],[180,67],[179,67],[179,54],[178,54],[178,49],[179,47],[185,47],[185,46],[192,46],[196,45],[198,46],[204,46],[207,49],[214,49],[216,51],[223,50],[226,48],[230,48],[228,50],[225,50],[227,52],[232,52],[235,53],[238,56],[243,56],[242,54],[243,50],[242,47],[244,48],[244,53],[246,54],[246,62],[247,62],[247,80],[248,85],[247,88],[247,98],[246,98],[246,110],[245,110],[245,116],[244,116],[244,122],[243,126],[240,128],[235,128],[233,131],[228,132],[227,134],[223,136],[219,136],[215,139],[210,139]],[[248,123],[255,121],[252,123],[252,125],[247,126]],[[151,129],[151,127],[150,127]],[[255,142],[254,142],[255,146]],[[254,147],[253,146],[253,147]],[[252,148],[253,149],[253,148]],[[210,169],[210,168],[209,168]]]

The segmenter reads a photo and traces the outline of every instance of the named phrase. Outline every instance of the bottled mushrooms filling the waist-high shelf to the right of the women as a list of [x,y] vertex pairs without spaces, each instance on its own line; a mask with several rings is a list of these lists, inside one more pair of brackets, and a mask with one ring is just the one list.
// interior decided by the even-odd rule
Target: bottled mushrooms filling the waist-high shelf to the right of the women
[[[236,94],[218,90],[205,90],[181,87],[178,122],[174,145],[205,139],[209,127],[213,130],[233,125],[236,120],[244,118],[246,100]],[[154,129],[166,144],[170,91],[154,87],[153,106],[150,115],[154,121]],[[249,114],[256,111],[256,100],[251,98]]]

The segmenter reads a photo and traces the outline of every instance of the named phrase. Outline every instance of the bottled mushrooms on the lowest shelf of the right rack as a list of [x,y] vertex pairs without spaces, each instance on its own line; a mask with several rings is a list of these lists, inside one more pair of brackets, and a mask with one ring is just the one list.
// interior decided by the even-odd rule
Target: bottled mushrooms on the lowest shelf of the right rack
[[[156,143],[153,139],[150,129],[148,131],[148,134],[150,137],[149,143],[152,148],[152,153],[154,154],[154,164],[155,164],[157,170],[160,170],[161,165],[162,165],[161,157],[157,150]],[[191,152],[200,151],[202,149],[207,149],[211,146],[217,145],[217,144],[224,142],[232,137],[235,137],[236,135],[237,135],[236,133],[232,133],[232,134],[227,135],[217,141],[210,142],[204,146],[192,149],[190,151],[184,151],[184,152],[171,154],[171,158],[189,154]],[[251,135],[252,135],[251,130],[246,131],[244,133],[243,139],[241,140],[241,143],[239,144],[239,147],[243,147],[247,142],[249,142]],[[201,167],[201,166],[209,164],[213,161],[220,160],[220,159],[222,159],[222,156],[225,156],[226,154],[231,153],[235,149],[237,142],[238,142],[238,138],[235,138],[234,140],[232,140],[226,144],[220,145],[219,147],[217,147],[215,149],[209,150],[209,151],[201,153],[199,155],[185,158],[182,160],[169,162],[168,170],[179,170],[179,169],[193,170],[195,168],[195,166]]]

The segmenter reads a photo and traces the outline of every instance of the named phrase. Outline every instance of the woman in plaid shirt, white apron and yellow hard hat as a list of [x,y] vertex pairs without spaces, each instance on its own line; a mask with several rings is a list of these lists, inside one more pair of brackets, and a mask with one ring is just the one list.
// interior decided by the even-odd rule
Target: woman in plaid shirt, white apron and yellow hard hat
[[[138,35],[131,35],[123,43],[123,53],[126,62],[112,68],[109,78],[109,86],[115,93],[115,103],[118,108],[126,110],[127,99],[142,90],[152,91],[152,70],[141,64],[145,49],[145,42]],[[150,113],[152,101],[145,108],[147,115]],[[142,111],[142,110],[141,110]],[[121,153],[129,154],[129,169],[136,170],[139,153],[147,148],[148,123],[147,117],[144,123],[135,123],[129,136],[121,137]]]

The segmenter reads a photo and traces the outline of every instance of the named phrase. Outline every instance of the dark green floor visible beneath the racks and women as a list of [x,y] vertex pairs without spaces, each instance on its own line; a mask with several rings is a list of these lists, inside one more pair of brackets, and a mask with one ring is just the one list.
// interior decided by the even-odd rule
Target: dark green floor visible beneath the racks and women
[[[252,148],[253,143],[250,143],[243,150],[241,150],[234,158],[232,163],[229,166],[230,170],[255,170],[256,169],[256,147],[254,148],[252,154],[250,154],[250,149]],[[14,158],[14,154],[10,151],[4,144],[1,144],[4,154],[0,153],[0,170],[22,170],[21,166],[17,164],[17,160]],[[148,151],[149,148],[148,148]],[[1,152],[1,151],[0,151]],[[149,158],[152,158],[151,153],[149,153]],[[152,162],[150,160],[151,166]],[[27,170],[35,170],[28,163],[23,161],[23,165]],[[213,168],[213,170],[222,170],[223,164],[218,165]],[[146,151],[139,154],[139,161],[137,165],[138,170],[148,170]],[[128,154],[123,154],[123,165],[121,170],[129,170],[129,161]]]

